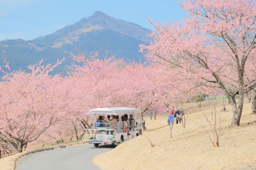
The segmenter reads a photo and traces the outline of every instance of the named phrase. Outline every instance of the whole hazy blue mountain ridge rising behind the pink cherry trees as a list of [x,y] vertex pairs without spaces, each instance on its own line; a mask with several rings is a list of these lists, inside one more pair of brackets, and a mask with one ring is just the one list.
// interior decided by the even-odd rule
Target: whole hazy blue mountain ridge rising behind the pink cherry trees
[[[152,40],[147,36],[149,33],[150,30],[140,25],[95,11],[90,17],[33,40],[1,41],[0,51],[14,70],[18,67],[27,70],[28,65],[38,63],[42,57],[45,63],[54,63],[57,59],[67,57],[65,51],[79,54],[101,50],[99,58],[104,58],[105,50],[108,50],[109,56],[116,55],[127,62],[139,62],[144,60],[139,45]],[[71,59],[66,59],[64,66],[70,63]],[[57,72],[63,72],[63,68],[58,68]]]

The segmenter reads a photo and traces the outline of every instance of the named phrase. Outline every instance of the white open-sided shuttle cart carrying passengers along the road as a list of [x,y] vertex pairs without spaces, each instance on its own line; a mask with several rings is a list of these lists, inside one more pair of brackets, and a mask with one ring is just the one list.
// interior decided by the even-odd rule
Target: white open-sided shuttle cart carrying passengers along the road
[[[127,123],[127,131],[125,132],[124,122],[121,120],[121,116],[124,114],[128,115]],[[130,114],[133,114],[132,123],[130,125],[129,117]],[[101,115],[107,117],[107,115],[115,115],[119,116],[119,120],[116,121],[116,128],[110,128],[110,124],[106,121],[102,121],[101,127],[91,127],[89,129],[84,129],[86,133],[84,134],[83,143],[93,143],[94,147],[98,147],[100,144],[114,144],[120,145],[124,141],[130,140],[142,134],[142,118],[141,118],[141,111],[135,108],[127,108],[127,107],[115,107],[115,108],[96,108],[89,110],[87,115]],[[95,119],[94,119],[95,120]],[[131,127],[131,130],[130,128]],[[95,139],[89,139],[90,137],[90,130],[97,129],[99,130],[97,134],[94,136]],[[110,132],[114,131],[113,135],[110,135]],[[107,135],[108,132],[108,135]],[[127,135],[127,134],[130,135]]]

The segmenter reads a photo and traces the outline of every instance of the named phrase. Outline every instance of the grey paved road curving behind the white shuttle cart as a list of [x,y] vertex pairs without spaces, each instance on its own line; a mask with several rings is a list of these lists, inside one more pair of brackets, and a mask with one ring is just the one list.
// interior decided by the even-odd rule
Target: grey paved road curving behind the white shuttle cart
[[[92,144],[53,149],[29,154],[19,160],[17,170],[82,170],[100,169],[92,159],[94,156],[108,152],[113,145],[99,145],[95,148]],[[102,160],[104,163],[107,160]],[[109,160],[108,160],[109,161]]]

